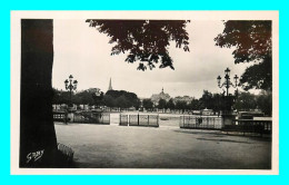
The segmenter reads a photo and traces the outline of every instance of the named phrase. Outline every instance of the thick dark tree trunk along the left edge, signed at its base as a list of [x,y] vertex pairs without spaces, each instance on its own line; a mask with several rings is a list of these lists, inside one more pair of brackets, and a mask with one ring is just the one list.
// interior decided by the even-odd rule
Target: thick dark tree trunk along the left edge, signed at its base
[[54,167],[53,21],[21,20],[20,167]]

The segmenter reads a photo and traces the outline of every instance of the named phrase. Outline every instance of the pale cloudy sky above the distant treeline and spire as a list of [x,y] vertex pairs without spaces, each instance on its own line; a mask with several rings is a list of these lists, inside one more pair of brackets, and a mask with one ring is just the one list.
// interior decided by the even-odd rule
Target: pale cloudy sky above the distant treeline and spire
[[110,56],[112,45],[107,35],[90,28],[86,20],[54,19],[52,86],[64,89],[63,81],[72,75],[79,82],[78,90],[97,87],[106,93],[111,78],[113,89],[136,93],[141,98],[160,93],[162,87],[171,97],[200,98],[203,89],[221,93],[217,76],[223,80],[227,67],[231,78],[240,76],[248,66],[235,65],[232,49],[215,46],[213,38],[222,30],[222,21],[191,21],[187,26],[190,52],[177,49],[175,42],[170,46],[175,70],[157,67],[142,71],[137,70],[138,62],[126,62],[123,53]]

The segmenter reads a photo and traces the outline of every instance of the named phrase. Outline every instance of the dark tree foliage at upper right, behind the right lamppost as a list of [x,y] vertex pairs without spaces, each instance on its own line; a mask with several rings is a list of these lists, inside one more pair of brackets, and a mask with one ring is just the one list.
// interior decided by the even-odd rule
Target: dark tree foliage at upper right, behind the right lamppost
[[215,38],[219,47],[233,47],[235,64],[255,62],[240,79],[243,88],[272,89],[272,28],[270,20],[229,20]]

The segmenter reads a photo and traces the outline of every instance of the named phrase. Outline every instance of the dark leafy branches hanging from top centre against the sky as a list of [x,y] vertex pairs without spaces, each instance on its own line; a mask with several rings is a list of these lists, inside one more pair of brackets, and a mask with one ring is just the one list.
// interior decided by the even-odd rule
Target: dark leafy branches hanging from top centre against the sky
[[116,43],[111,55],[128,52],[126,61],[139,62],[139,70],[159,67],[173,69],[168,47],[170,41],[177,48],[189,51],[189,36],[186,20],[96,20],[88,19],[89,27],[110,37],[109,43]]

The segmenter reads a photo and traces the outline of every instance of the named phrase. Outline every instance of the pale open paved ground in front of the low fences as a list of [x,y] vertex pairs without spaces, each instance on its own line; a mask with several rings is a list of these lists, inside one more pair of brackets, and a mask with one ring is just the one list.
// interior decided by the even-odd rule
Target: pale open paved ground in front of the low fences
[[270,138],[230,136],[216,130],[62,125],[58,142],[74,150],[81,168],[268,169]]

